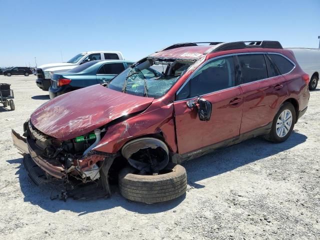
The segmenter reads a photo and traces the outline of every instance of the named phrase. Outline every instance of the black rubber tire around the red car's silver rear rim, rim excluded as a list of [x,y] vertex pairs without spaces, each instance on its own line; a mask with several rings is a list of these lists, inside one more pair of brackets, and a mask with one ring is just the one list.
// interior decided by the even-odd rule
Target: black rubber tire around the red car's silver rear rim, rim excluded
[[[292,123],[291,123],[291,127],[290,127],[289,131],[286,133],[286,135],[284,135],[283,137],[280,137],[276,133],[276,122],[277,122],[277,119],[279,118],[280,114],[284,110],[289,110],[291,112]],[[280,109],[275,114],[273,121],[272,121],[271,130],[268,134],[264,135],[264,139],[271,141],[271,142],[274,142],[274,143],[279,143],[279,142],[285,141],[290,136],[290,134],[293,130],[293,127],[294,127],[294,123],[295,123],[295,108],[292,105],[292,103],[286,101],[280,106]]]

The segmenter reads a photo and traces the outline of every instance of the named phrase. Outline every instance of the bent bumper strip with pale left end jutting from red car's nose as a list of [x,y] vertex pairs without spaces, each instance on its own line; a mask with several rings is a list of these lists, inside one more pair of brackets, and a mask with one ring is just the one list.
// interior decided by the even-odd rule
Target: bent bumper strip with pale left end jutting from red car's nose
[[11,131],[13,145],[18,148],[23,155],[30,154],[32,160],[45,172],[57,178],[65,176],[64,167],[59,162],[52,163],[39,155],[39,149],[28,137],[21,137],[13,129]]

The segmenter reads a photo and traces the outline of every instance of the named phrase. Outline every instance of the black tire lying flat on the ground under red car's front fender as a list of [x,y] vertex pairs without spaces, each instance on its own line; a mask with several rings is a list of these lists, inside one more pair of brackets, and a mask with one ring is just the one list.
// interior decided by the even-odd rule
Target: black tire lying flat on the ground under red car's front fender
[[183,195],[186,191],[186,171],[181,165],[169,163],[168,173],[138,175],[132,167],[125,167],[119,173],[119,189],[123,197],[139,202],[168,201]]

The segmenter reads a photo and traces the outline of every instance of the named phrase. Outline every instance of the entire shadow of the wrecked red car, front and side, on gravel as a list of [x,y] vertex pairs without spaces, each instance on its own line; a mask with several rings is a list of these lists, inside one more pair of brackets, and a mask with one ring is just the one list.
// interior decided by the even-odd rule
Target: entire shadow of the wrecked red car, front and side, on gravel
[[[237,145],[233,145],[213,153],[190,160],[183,164],[188,174],[188,184],[196,188],[205,187],[196,181],[212,177],[239,166],[254,162],[256,160],[274,155],[278,152],[290,149],[306,140],[306,136],[298,132],[292,132],[291,136],[282,143],[274,144],[260,138],[253,138]],[[146,204],[128,201],[116,190],[107,199],[94,200],[73,200],[68,198],[62,200],[50,200],[52,190],[48,185],[36,186],[28,177],[23,166],[22,158],[7,160],[8,163],[20,163],[17,168],[20,188],[24,194],[24,201],[36,204],[49,212],[59,210],[70,210],[83,215],[89,212],[96,212],[121,206],[129,211],[141,214],[149,214],[170,210],[185,199],[185,194],[167,202]]]

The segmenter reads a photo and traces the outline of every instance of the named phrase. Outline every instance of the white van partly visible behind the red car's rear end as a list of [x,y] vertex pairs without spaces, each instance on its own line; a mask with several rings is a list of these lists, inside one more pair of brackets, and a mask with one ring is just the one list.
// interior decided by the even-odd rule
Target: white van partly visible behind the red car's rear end
[[319,80],[320,72],[320,49],[287,47],[293,51],[295,59],[302,70],[309,74],[309,90],[314,90]]

